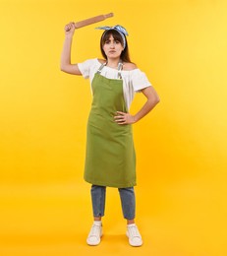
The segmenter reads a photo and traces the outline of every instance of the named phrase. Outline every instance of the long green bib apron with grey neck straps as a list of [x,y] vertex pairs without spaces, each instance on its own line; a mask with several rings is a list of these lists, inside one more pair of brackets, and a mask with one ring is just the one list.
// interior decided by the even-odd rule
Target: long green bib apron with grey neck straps
[[[91,83],[93,100],[87,121],[85,181],[93,185],[126,188],[136,185],[136,155],[132,125],[114,121],[116,111],[128,112],[122,79],[100,75]],[[119,65],[118,75],[121,78]]]

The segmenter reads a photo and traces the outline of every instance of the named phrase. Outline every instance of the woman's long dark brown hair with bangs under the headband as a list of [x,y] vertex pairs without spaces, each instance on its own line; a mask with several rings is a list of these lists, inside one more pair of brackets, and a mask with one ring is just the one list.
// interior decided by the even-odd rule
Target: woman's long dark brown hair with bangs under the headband
[[[107,60],[107,56],[103,50],[103,45],[105,44],[105,42],[109,39],[110,35],[113,35],[115,40],[118,40],[121,42],[122,45],[124,45],[124,41],[123,38],[121,36],[121,34],[115,30],[109,30],[109,31],[105,31],[102,33],[101,39],[100,39],[100,50],[101,50],[101,54],[103,56],[103,58],[105,58]],[[125,36],[125,35],[124,35]],[[121,53],[121,60],[124,62],[131,62],[130,60],[130,53],[129,53],[129,47],[128,47],[128,42],[127,42],[127,38],[125,36],[125,40],[126,40],[126,46],[125,49],[122,51]]]

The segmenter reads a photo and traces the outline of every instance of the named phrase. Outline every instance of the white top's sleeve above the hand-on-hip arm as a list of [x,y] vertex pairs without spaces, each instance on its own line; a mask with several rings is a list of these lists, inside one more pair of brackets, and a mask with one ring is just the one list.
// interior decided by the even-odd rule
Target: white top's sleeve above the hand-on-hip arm
[[139,93],[142,89],[152,86],[148,81],[145,73],[140,69],[136,69],[132,72],[131,82],[134,88],[134,91]]

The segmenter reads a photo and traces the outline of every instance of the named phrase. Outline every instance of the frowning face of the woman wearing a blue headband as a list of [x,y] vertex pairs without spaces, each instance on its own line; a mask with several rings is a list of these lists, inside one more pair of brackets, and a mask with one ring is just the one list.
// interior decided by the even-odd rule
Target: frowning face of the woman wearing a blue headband
[[107,58],[119,58],[124,50],[120,41],[115,40],[113,35],[110,34],[109,38],[102,46]]

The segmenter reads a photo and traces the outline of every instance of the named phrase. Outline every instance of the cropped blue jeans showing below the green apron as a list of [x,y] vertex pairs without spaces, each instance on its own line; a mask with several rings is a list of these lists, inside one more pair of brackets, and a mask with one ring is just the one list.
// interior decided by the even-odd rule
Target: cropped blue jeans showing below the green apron
[[[136,212],[136,200],[134,187],[118,188],[121,197],[122,212],[126,220],[134,220]],[[94,217],[103,217],[105,212],[106,187],[91,186],[91,200]]]

